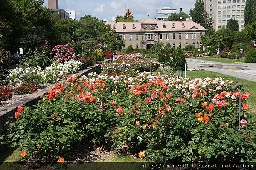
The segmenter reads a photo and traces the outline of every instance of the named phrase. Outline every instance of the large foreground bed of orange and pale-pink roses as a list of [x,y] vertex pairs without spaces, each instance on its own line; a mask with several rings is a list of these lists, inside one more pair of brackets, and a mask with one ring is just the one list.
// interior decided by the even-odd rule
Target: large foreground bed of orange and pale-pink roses
[[35,109],[17,110],[3,137],[28,160],[57,161],[73,141],[111,138],[116,149],[127,145],[148,161],[255,161],[250,94],[241,94],[239,131],[239,92],[231,84],[147,72],[73,76],[41,96]]

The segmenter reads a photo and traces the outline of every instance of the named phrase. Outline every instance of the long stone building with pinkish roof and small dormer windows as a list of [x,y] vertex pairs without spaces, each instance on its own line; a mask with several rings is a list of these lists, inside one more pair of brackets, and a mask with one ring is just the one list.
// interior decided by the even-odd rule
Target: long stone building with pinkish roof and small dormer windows
[[192,20],[154,21],[146,18],[143,22],[112,22],[106,23],[113,30],[122,35],[125,47],[131,45],[134,49],[148,50],[156,43],[170,43],[172,47],[184,48],[194,45],[200,48],[201,35],[206,29]]

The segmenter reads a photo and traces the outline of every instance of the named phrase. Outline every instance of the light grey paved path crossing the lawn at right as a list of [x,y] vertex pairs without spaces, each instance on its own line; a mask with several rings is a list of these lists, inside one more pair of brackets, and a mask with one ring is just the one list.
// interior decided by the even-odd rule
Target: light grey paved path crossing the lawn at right
[[[220,63],[220,62],[215,62],[215,61],[205,61],[205,60],[199,60],[199,59],[194,59],[194,58],[186,58],[186,61],[188,63],[188,69],[198,69],[198,68],[204,68],[207,71],[213,71],[213,72],[218,72],[224,75],[230,75],[236,78],[242,78],[248,81],[254,81],[256,82],[256,64],[228,64],[228,63]],[[250,70],[230,70],[230,69],[220,69],[220,68],[214,68],[214,67],[200,67],[201,64],[206,64],[206,63],[214,63],[214,64],[222,64],[222,65],[242,65],[242,66],[248,66],[246,69]]]

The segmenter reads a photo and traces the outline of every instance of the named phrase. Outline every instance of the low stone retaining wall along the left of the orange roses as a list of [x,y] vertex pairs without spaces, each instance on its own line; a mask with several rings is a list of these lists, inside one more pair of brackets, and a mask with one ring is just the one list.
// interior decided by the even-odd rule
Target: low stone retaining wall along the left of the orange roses
[[[108,61],[108,60],[106,60]],[[77,72],[75,75],[88,75],[90,72],[96,72],[97,74],[101,73],[101,65],[96,64],[88,69],[81,70],[80,72]],[[14,104],[0,108],[0,135],[7,133],[6,129],[7,126],[5,126],[6,122],[9,121],[15,121],[14,117],[15,112],[17,112],[17,107],[19,105],[27,106],[27,107],[32,107],[33,105],[36,105],[40,99],[40,96],[42,94],[47,94],[48,90],[51,89],[51,87],[48,87],[46,89],[41,90],[40,92],[35,92],[29,97],[22,98],[20,101],[15,102]]]

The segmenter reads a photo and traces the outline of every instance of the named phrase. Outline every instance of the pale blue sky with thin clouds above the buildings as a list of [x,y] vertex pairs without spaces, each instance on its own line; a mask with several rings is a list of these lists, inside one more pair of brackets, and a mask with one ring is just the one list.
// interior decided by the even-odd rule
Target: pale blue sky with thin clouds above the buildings
[[[44,0],[47,6],[48,0]],[[149,16],[154,19],[156,10],[159,7],[170,6],[171,8],[183,8],[183,12],[188,13],[194,6],[195,0],[58,0],[59,9],[75,10],[76,18],[84,15],[91,15],[112,21],[113,16],[125,15],[125,6],[132,9],[135,20],[143,21],[149,12]]]

